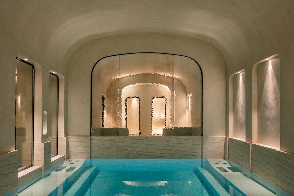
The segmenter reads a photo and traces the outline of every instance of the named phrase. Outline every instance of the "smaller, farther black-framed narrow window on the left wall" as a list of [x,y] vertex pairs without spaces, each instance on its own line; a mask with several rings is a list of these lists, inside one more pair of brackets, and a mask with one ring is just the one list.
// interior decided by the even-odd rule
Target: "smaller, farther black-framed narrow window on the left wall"
[[58,154],[58,76],[49,74],[49,104],[48,104],[47,133],[51,141],[51,156]]

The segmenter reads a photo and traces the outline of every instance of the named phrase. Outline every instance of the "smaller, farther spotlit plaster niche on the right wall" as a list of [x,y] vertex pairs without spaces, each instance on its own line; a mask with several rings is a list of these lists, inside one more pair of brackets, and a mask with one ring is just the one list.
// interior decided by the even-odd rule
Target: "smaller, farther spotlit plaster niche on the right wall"
[[230,137],[246,139],[245,71],[230,76]]

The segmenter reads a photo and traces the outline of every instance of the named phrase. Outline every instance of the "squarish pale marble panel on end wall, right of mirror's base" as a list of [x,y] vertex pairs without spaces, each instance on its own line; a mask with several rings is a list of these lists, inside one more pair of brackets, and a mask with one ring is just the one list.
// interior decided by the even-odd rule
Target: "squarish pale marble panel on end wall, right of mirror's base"
[[203,136],[203,159],[223,159],[225,153],[224,136]]

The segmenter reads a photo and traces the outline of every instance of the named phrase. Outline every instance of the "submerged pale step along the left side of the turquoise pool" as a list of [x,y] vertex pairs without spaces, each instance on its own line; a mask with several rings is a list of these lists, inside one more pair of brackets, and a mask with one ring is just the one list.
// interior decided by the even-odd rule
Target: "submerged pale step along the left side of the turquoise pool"
[[81,195],[81,192],[84,189],[84,186],[89,183],[91,177],[94,175],[96,171],[96,167],[91,167],[88,170],[86,170],[81,177],[78,178],[78,180],[74,183],[74,185],[71,186],[71,188],[66,192],[66,196],[72,196],[72,195]]

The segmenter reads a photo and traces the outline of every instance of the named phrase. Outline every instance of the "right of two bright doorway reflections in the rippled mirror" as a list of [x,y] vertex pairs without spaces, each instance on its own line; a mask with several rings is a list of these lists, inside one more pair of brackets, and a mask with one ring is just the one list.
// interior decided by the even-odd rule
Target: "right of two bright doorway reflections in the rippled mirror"
[[166,127],[166,98],[152,98],[152,133],[151,135],[162,135],[163,129]]

